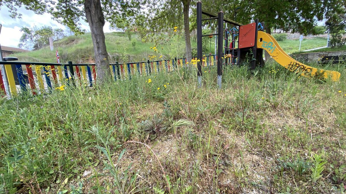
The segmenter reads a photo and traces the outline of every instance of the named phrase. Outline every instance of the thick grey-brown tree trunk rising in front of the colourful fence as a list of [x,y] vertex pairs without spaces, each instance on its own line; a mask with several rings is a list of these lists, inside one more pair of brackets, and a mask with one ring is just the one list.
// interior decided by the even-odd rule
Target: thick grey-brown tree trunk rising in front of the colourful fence
[[86,20],[88,20],[90,26],[92,43],[94,46],[97,82],[103,84],[107,80],[111,80],[111,72],[106,42],[104,41],[104,16],[100,0],[85,0],[84,10]]

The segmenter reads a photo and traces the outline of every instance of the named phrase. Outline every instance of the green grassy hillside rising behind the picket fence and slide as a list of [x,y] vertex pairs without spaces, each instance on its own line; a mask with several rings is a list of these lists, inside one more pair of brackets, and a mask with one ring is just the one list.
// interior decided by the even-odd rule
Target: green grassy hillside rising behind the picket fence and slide
[[[148,55],[158,55],[153,52],[150,47],[153,47],[152,42],[142,42],[140,38],[135,34],[131,41],[121,32],[105,33],[107,51],[110,54],[111,62],[115,61],[143,61],[143,58],[147,60]],[[212,39],[211,45],[208,44],[207,38],[207,50],[205,54],[210,52],[214,53],[215,39]],[[317,48],[326,45],[326,38],[312,38],[303,40],[301,50]],[[135,46],[131,42],[136,42]],[[192,48],[197,47],[197,43],[194,39],[191,40]],[[70,36],[62,40],[54,42],[54,49],[58,49],[61,60],[73,62],[93,62],[93,46],[90,33],[86,33],[81,36]],[[299,40],[284,40],[279,41],[279,45],[287,53],[299,50]],[[163,49],[161,49],[161,46]],[[211,47],[211,51],[209,51]],[[179,49],[177,49],[179,48]],[[181,57],[185,54],[185,41],[182,36],[174,36],[169,39],[163,45],[158,46],[160,55],[164,55],[165,58]],[[126,55],[127,54],[127,55]],[[49,47],[45,47],[40,50],[30,51],[26,53],[18,53],[13,55],[18,57],[20,61],[38,61],[38,62],[55,62],[55,51],[51,51]]]

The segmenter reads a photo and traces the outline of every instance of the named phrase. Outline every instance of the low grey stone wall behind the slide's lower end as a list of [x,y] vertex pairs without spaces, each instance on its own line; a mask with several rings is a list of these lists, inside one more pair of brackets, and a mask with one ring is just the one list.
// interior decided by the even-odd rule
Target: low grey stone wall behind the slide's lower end
[[329,52],[310,52],[302,54],[290,55],[299,62],[317,62],[318,59],[326,56],[341,56],[346,55],[346,51],[329,51]]

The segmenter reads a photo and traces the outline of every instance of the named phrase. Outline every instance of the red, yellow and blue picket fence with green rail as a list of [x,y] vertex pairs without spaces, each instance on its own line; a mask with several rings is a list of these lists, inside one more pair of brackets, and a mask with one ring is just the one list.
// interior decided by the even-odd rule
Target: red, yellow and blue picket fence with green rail
[[[197,58],[193,58],[197,59]],[[202,67],[216,66],[216,55],[203,57]],[[148,76],[159,72],[173,72],[186,66],[186,58],[175,58],[156,61],[110,64],[115,81],[131,79],[132,76]],[[190,61],[189,61],[190,62]],[[30,91],[33,95],[43,93],[64,84],[80,83],[90,87],[97,81],[95,64],[51,64],[42,62],[0,61],[4,65],[10,91],[6,91],[0,70],[0,94],[16,95],[21,91]],[[15,71],[11,66],[15,66]],[[197,65],[194,65],[197,68]],[[23,69],[25,67],[25,69]],[[26,72],[25,72],[26,71]],[[70,80],[73,81],[70,81]]]

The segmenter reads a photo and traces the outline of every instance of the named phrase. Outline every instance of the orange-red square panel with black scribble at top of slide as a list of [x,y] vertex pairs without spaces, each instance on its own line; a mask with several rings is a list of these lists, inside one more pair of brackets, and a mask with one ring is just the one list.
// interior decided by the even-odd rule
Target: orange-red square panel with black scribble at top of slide
[[256,23],[249,23],[239,27],[239,48],[255,45]]

